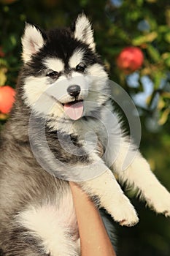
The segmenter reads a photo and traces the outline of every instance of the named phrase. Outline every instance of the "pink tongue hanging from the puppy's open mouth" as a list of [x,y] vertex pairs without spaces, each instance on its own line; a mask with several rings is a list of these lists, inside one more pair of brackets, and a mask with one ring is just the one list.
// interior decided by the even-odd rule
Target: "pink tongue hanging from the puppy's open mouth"
[[73,120],[77,120],[82,116],[83,113],[83,102],[68,103],[63,106],[66,114]]

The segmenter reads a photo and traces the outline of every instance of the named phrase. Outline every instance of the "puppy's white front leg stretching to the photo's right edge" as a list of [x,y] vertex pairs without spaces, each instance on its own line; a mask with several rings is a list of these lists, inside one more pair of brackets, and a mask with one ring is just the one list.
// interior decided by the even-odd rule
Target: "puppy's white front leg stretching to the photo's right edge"
[[[128,156],[128,162],[127,162]],[[150,170],[139,151],[121,138],[119,154],[112,166],[120,181],[139,189],[147,204],[157,213],[170,216],[170,194]],[[124,169],[124,170],[123,170]]]

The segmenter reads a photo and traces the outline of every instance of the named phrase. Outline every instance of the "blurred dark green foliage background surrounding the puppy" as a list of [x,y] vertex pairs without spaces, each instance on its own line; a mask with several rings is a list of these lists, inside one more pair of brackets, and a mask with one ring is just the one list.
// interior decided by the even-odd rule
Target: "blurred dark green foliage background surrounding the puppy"
[[[68,26],[80,12],[93,23],[96,47],[110,78],[134,99],[142,123],[141,151],[170,190],[170,2],[169,0],[0,0],[0,86],[15,88],[25,22],[43,29]],[[142,67],[117,67],[127,46],[142,50]],[[0,113],[3,126],[8,115]],[[170,221],[156,216],[131,191],[136,227],[117,225],[118,256],[169,256]],[[1,225],[1,224],[0,224]]]

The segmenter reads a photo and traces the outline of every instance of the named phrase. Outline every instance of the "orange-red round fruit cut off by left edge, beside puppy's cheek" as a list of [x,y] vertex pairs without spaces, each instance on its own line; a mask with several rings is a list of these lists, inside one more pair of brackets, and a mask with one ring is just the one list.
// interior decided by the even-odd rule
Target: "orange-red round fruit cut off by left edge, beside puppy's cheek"
[[10,112],[15,101],[15,90],[10,86],[0,87],[0,112],[7,114]]

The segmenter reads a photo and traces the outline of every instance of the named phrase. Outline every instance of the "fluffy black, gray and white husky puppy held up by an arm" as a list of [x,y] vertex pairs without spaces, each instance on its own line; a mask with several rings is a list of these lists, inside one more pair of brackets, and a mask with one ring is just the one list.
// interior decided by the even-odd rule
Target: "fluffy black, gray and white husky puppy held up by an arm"
[[[169,192],[112,118],[108,76],[88,18],[79,15],[74,29],[47,32],[26,24],[22,43],[16,101],[1,134],[4,255],[80,255],[68,180],[121,225],[135,225],[138,217],[113,173],[169,217]],[[127,151],[135,157],[123,168]]]

